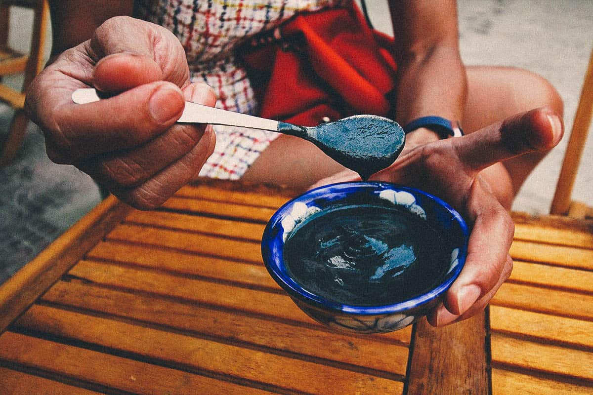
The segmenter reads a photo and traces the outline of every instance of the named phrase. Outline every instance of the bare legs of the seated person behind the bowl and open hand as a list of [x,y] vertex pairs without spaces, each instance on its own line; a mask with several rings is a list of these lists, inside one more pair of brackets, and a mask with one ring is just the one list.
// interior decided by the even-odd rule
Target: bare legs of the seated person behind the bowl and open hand
[[[515,68],[475,66],[467,68],[467,78],[468,100],[463,118],[466,133],[537,107],[551,107],[562,115],[562,99],[549,82],[534,73]],[[505,162],[515,192],[543,156],[541,153],[524,155]],[[280,136],[242,179],[307,188],[343,169],[313,144],[297,137]]]

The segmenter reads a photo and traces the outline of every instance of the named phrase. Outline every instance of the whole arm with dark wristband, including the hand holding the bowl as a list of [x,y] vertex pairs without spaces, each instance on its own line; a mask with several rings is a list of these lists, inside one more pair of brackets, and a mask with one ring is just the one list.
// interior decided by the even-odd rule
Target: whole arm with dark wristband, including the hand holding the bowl
[[[460,119],[466,108],[466,72],[457,49],[454,4],[433,3],[437,2],[391,4],[401,46],[396,119],[404,124],[425,115]],[[438,195],[470,224],[466,264],[444,303],[429,312],[432,325],[447,325],[482,310],[509,277],[514,225],[507,210],[515,192],[502,162],[541,155],[556,146],[562,133],[562,121],[549,108],[446,140],[419,129],[408,135],[404,152],[393,165],[371,176]],[[520,181],[517,172],[511,174]],[[350,179],[352,174],[339,174],[318,184]]]

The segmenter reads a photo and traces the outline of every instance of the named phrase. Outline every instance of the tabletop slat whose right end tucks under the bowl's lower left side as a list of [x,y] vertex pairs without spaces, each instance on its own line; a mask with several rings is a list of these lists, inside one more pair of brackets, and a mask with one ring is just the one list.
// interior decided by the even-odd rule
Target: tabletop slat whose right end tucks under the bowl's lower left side
[[109,285],[122,290],[143,291],[164,297],[202,303],[207,306],[244,311],[257,316],[273,317],[307,325],[318,325],[285,294],[216,284],[204,280],[167,275],[161,272],[84,261],[74,266],[69,274],[83,281]]

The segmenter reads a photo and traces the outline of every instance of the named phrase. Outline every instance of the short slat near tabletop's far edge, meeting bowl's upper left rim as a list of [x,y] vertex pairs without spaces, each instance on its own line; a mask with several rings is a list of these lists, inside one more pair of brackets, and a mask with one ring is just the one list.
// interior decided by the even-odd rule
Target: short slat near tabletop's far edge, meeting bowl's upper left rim
[[267,223],[276,211],[275,208],[255,207],[221,201],[196,200],[177,196],[165,201],[162,207],[171,210],[189,211],[191,213],[205,213],[213,216],[259,221],[263,224]]

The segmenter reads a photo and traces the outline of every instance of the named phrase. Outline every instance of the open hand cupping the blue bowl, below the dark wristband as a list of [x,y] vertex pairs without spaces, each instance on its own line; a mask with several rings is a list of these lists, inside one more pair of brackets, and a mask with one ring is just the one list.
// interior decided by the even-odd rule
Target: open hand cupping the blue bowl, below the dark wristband
[[[445,293],[444,303],[427,316],[433,326],[457,322],[484,309],[511,275],[509,249],[514,224],[507,208],[514,192],[500,162],[549,150],[562,134],[558,115],[540,108],[467,136],[416,146],[371,176],[441,197],[460,211],[472,228],[463,271]],[[343,172],[316,185],[352,179],[351,173]]]

